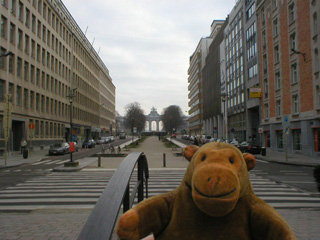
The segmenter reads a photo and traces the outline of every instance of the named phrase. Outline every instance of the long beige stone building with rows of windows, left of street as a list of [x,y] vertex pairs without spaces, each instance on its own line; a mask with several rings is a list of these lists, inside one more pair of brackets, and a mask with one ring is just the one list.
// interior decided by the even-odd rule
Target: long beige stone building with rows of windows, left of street
[[[115,86],[99,55],[60,0],[9,1],[0,5],[1,145],[10,95],[9,148],[22,138],[33,146],[96,138],[115,129]],[[29,124],[34,130],[29,131]]]

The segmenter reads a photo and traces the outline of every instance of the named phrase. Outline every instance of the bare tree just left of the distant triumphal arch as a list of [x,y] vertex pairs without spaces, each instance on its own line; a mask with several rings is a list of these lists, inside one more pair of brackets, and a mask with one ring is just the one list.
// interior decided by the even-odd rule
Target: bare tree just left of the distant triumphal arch
[[124,117],[124,125],[127,128],[131,129],[133,132],[134,128],[137,128],[138,132],[141,132],[144,129],[146,116],[140,106],[140,103],[133,102],[129,103],[125,107],[126,115]]

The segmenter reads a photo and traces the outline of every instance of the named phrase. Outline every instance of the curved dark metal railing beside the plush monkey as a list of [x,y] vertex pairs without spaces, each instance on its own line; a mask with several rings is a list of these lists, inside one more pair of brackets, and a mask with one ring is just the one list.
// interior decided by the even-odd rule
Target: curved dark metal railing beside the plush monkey
[[[130,194],[129,183],[137,163],[138,181]],[[101,194],[82,228],[78,240],[111,239],[121,204],[123,204],[123,212],[129,210],[133,205],[137,192],[138,202],[142,201],[144,198],[144,182],[146,198],[148,198],[148,178],[149,168],[144,153],[130,153],[113,174]]]

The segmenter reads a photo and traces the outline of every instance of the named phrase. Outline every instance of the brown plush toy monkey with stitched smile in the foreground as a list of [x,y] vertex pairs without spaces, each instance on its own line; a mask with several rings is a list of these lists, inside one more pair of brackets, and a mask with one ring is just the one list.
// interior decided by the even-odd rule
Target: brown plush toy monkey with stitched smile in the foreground
[[288,224],[253,192],[248,171],[256,164],[226,143],[188,146],[190,161],[175,190],[139,203],[121,218],[121,239],[295,239]]

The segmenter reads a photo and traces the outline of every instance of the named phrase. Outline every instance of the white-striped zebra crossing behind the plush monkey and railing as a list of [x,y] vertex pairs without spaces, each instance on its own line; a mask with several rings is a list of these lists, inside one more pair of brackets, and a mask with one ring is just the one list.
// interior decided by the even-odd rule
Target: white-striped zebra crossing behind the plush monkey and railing
[[[87,168],[80,172],[52,172],[29,179],[0,190],[0,212],[93,208],[113,173],[114,170],[110,169]],[[273,207],[320,208],[319,197],[256,173],[250,172],[254,191]],[[185,169],[150,169],[149,197],[176,188],[184,174]],[[133,173],[132,179],[136,179],[136,173]],[[133,186],[131,183],[130,188]]]

